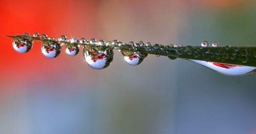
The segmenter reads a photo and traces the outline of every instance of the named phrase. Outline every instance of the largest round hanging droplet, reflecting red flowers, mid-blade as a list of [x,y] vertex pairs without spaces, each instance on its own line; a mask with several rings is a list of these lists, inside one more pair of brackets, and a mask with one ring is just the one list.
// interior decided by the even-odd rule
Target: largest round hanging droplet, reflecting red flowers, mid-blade
[[93,69],[101,70],[111,64],[114,51],[111,48],[102,48],[100,46],[84,46],[83,56]]

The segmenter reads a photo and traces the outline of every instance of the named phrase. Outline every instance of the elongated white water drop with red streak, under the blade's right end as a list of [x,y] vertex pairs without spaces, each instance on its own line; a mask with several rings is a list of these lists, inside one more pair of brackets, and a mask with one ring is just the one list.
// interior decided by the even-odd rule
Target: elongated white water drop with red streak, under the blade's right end
[[229,76],[246,75],[256,70],[256,67],[253,67],[253,66],[217,63],[217,62],[209,62],[209,61],[202,61],[202,60],[191,60],[191,61],[194,61],[203,66],[206,66],[209,69],[212,69],[221,74],[229,75]]

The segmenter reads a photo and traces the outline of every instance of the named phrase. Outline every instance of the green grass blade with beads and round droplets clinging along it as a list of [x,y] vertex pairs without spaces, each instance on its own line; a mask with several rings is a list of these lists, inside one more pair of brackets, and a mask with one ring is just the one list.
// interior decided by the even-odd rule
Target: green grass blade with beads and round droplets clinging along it
[[[87,63],[94,69],[104,69],[109,66],[113,60],[114,51],[118,49],[124,56],[124,60],[131,65],[140,64],[148,54],[155,54],[168,56],[169,59],[176,59],[178,57],[185,59],[203,59],[203,60],[236,60],[242,63],[248,61],[248,56],[256,57],[256,51],[247,52],[246,49],[239,47],[226,46],[218,47],[218,42],[213,42],[212,47],[209,46],[208,41],[203,41],[201,46],[178,46],[169,44],[163,46],[161,44],[151,45],[150,42],[144,43],[139,41],[135,43],[123,43],[118,40],[107,41],[85,38],[78,40],[77,38],[67,39],[65,35],[57,39],[48,38],[46,34],[34,33],[31,37],[28,33],[23,35],[13,36],[13,48],[19,53],[27,53],[31,50],[34,40],[42,40],[41,52],[48,58],[55,58],[60,54],[61,46],[66,46],[66,53],[70,56],[75,56],[79,53],[79,45],[83,46],[83,55]],[[215,48],[215,49],[212,49]]]

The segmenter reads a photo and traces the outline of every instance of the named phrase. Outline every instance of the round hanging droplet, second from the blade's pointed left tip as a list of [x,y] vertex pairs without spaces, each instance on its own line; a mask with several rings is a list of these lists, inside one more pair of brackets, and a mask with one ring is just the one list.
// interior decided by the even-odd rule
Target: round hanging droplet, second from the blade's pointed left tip
[[43,40],[41,45],[42,54],[47,58],[56,58],[61,51],[60,43],[55,40]]

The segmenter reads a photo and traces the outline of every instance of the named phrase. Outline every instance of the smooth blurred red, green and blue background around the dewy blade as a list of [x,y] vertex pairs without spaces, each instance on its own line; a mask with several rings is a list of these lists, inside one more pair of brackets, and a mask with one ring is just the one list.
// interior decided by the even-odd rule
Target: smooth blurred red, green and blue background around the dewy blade
[[230,77],[183,59],[115,51],[94,70],[82,52],[19,54],[4,35],[221,46],[255,45],[256,2],[0,1],[0,133],[256,133],[255,74]]

